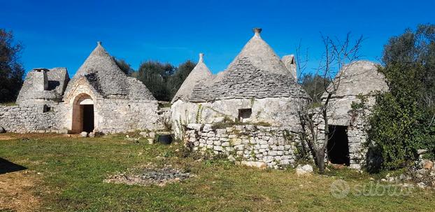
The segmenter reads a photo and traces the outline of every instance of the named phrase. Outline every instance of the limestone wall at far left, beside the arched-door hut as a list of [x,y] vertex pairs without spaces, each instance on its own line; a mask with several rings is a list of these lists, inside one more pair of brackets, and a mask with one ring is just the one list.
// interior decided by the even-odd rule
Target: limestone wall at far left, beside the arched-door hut
[[66,132],[61,117],[65,110],[62,104],[47,106],[0,106],[0,127],[6,132]]

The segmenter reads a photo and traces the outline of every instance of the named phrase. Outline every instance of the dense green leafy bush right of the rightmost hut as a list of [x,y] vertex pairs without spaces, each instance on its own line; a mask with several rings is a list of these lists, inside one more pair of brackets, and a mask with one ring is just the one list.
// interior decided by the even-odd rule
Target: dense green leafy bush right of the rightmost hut
[[[369,141],[382,155],[382,169],[406,167],[417,159],[417,150],[426,148],[435,155],[435,128],[428,108],[419,104],[420,66],[388,66],[390,92],[376,95],[376,105],[369,118]],[[408,74],[403,74],[407,70]]]

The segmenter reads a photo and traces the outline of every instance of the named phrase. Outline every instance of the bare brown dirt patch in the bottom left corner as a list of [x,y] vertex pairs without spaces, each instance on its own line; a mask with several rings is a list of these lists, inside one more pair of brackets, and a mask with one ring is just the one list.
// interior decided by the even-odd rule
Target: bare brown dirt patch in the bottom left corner
[[37,211],[41,199],[34,195],[38,185],[34,171],[15,171],[0,174],[0,211]]

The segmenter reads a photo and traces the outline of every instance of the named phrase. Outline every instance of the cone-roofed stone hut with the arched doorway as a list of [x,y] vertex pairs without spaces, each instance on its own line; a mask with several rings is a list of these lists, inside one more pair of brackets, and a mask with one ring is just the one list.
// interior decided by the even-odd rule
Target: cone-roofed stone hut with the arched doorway
[[143,83],[121,71],[100,42],[71,79],[63,101],[71,132],[115,133],[161,125],[157,100]]

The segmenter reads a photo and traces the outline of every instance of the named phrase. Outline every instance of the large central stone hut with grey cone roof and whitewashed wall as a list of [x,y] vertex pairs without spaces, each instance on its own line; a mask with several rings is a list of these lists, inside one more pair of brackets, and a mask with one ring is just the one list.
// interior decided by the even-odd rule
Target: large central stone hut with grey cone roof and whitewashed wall
[[181,122],[176,125],[232,120],[299,127],[297,108],[308,95],[261,38],[262,30],[254,31],[254,36],[225,71],[213,77],[204,74],[208,80],[200,80],[193,87],[186,100],[191,103],[190,108],[173,117]]

